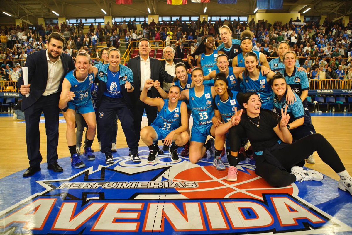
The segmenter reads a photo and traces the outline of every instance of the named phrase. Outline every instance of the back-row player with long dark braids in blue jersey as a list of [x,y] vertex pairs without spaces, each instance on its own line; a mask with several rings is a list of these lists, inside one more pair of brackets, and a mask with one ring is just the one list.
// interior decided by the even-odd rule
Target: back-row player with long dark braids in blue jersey
[[[205,37],[197,49],[189,54],[187,57],[187,62],[189,66],[193,69],[194,65],[198,68],[202,68],[204,75],[209,74],[211,71],[216,69],[216,57],[218,56],[218,51],[214,50],[215,39],[213,36]],[[194,57],[198,56],[196,62],[194,62]]]

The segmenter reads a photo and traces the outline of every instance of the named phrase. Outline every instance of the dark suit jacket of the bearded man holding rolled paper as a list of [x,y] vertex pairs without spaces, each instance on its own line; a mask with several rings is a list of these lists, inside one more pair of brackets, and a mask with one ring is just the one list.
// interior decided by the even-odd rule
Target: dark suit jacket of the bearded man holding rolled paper
[[[34,104],[40,96],[42,96],[46,89],[46,83],[48,81],[48,62],[46,61],[46,51],[47,50],[36,51],[27,56],[26,67],[28,68],[28,83],[31,84],[31,90],[28,98],[23,96],[22,110],[25,110]],[[61,92],[62,81],[66,73],[75,68],[74,61],[70,55],[62,53],[60,58],[64,68],[64,73],[61,78],[58,92]],[[21,77],[18,80],[18,87],[24,84],[22,76],[23,74],[21,74]]]

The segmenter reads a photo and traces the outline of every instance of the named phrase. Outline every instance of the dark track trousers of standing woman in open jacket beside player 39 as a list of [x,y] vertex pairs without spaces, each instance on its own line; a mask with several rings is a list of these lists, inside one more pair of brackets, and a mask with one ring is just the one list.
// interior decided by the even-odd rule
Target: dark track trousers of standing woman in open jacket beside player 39
[[[122,130],[125,133],[126,142],[132,154],[138,153],[138,140],[134,133],[133,115],[128,109],[124,98],[110,98],[103,96],[98,108],[98,123],[100,131],[101,152],[111,154],[114,119],[119,117]],[[138,132],[139,135],[139,132]]]

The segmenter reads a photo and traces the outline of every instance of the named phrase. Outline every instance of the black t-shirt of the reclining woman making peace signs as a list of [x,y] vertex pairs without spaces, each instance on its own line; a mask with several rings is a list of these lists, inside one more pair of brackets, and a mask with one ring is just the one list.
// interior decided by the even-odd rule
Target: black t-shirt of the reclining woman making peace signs
[[[245,130],[254,152],[263,151],[264,149],[274,145],[279,140],[279,137],[273,130],[279,122],[277,115],[271,110],[261,109],[259,117],[250,118],[246,113],[244,113],[241,116],[241,121],[239,124]],[[259,127],[257,127],[258,120]]]

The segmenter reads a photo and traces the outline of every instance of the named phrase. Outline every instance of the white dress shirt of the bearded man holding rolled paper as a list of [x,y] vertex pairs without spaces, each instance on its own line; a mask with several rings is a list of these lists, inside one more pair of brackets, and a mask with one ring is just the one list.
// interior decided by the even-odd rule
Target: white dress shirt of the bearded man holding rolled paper
[[64,74],[64,68],[60,57],[55,62],[51,62],[48,56],[48,50],[46,50],[45,54],[48,63],[48,81],[46,82],[46,89],[43,96],[48,96],[49,94],[58,92],[60,81]]

